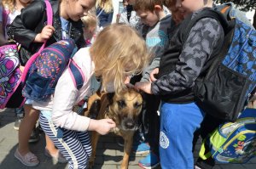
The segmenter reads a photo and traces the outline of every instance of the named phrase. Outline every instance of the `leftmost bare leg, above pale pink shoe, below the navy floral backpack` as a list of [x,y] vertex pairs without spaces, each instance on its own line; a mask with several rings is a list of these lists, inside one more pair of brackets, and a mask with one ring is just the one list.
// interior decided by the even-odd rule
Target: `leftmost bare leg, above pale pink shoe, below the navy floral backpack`
[[39,111],[32,108],[32,104],[24,105],[25,116],[20,123],[19,129],[19,146],[20,155],[26,155],[30,150],[28,140],[30,138],[33,127],[38,121]]

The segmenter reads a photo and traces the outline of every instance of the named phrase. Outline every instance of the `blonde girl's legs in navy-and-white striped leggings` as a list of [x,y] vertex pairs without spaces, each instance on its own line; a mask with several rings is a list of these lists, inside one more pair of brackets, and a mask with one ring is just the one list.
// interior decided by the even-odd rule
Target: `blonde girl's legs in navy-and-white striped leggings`
[[69,168],[86,168],[91,153],[89,134],[63,129],[63,137],[57,138],[58,127],[42,114],[39,121],[45,134],[67,159]]

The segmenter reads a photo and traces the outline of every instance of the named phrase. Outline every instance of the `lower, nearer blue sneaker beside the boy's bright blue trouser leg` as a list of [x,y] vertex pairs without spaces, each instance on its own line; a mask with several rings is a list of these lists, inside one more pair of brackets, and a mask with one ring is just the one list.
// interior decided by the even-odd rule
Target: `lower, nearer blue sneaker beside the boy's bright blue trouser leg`
[[155,155],[153,152],[150,152],[145,158],[143,158],[138,162],[138,166],[145,169],[155,168],[156,166],[159,166],[159,165],[160,165],[159,157]]

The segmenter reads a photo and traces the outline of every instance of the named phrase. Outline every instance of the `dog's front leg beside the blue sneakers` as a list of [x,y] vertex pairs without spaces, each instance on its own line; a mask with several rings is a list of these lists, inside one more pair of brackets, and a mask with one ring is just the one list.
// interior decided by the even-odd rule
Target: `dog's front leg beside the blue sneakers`
[[121,169],[127,169],[128,168],[128,164],[129,164],[129,157],[131,154],[131,146],[132,146],[132,142],[133,142],[133,134],[129,135],[127,137],[124,138],[125,139],[125,145],[124,145],[124,158],[121,164]]

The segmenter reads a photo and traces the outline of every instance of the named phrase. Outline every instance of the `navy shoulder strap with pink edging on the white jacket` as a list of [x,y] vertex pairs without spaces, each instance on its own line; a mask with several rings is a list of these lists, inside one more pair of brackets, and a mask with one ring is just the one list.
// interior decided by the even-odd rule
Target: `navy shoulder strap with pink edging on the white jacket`
[[79,90],[84,85],[85,77],[84,77],[83,71],[81,70],[79,65],[77,65],[73,61],[73,59],[69,59],[68,71],[69,71],[70,75],[72,76],[74,86],[77,87],[77,89]]

